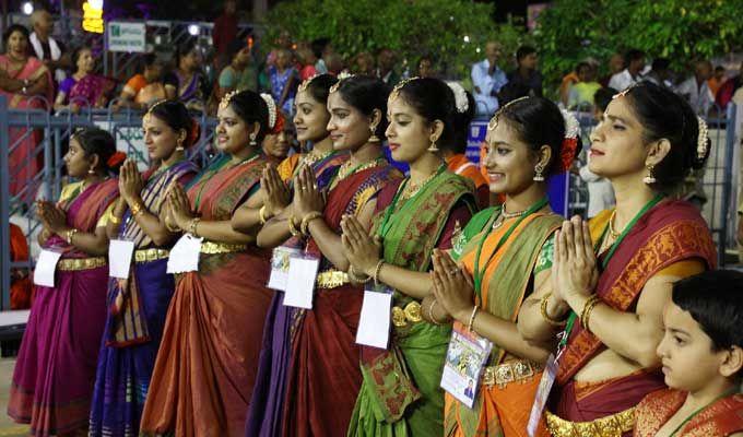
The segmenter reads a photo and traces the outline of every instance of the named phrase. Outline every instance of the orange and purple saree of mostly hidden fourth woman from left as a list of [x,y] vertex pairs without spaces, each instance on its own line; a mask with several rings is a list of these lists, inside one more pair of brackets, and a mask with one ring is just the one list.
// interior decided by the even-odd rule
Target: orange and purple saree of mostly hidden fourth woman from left
[[[294,160],[294,164],[290,160]],[[285,181],[292,180],[292,176],[300,161],[300,156],[292,155],[280,166],[282,174],[283,167],[291,167],[286,177],[282,174]],[[338,167],[347,160],[347,154],[332,154],[325,160],[312,163],[312,172],[318,178],[318,187],[323,190],[330,182],[326,174],[334,174]],[[288,172],[285,169],[285,172]],[[292,237],[284,246],[293,248],[306,248],[307,241]],[[271,307],[266,317],[263,327],[263,341],[258,364],[258,376],[256,386],[250,399],[248,420],[246,424],[246,437],[252,436],[278,436],[282,430],[282,414],[284,409],[284,398],[287,386],[287,373],[292,354],[292,336],[290,335],[292,323],[299,315],[292,307],[284,306],[284,293],[275,291]]]

